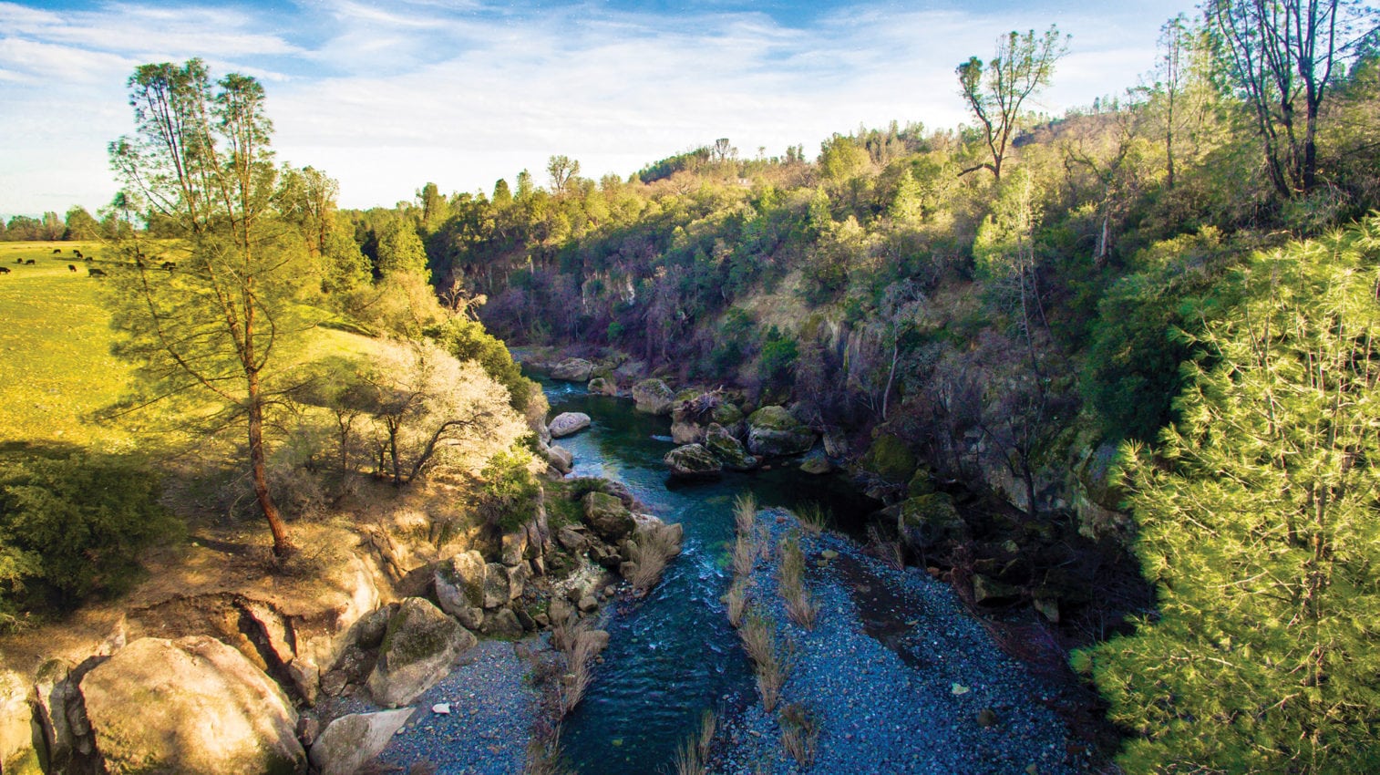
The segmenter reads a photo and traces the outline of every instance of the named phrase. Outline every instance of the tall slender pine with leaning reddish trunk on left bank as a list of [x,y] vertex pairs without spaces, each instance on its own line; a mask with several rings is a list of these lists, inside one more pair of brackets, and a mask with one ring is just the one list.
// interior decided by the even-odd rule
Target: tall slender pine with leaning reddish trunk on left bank
[[[273,207],[264,87],[235,73],[213,84],[190,59],[142,65],[128,88],[135,133],[110,144],[117,199],[146,206],[170,242],[121,240],[137,268],[112,278],[120,351],[139,363],[150,399],[211,402],[218,427],[246,432],[254,495],[282,557],[293,544],[268,482],[265,410],[308,260]],[[178,271],[153,269],[155,251],[178,256]]]

